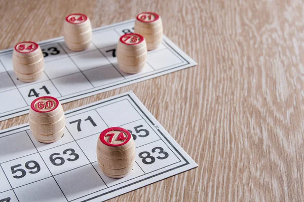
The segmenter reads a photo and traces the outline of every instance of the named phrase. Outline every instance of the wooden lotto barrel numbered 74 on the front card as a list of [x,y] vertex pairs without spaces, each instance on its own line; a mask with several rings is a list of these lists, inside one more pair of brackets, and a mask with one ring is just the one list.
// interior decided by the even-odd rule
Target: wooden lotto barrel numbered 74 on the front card
[[125,177],[133,168],[135,144],[131,133],[121,127],[103,130],[97,141],[98,164],[110,178]]

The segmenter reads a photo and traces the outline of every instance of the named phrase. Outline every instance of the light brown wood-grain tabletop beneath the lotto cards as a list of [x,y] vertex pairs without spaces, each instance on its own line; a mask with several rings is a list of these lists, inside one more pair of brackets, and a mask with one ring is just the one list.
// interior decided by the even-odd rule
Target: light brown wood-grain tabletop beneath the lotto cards
[[303,201],[302,1],[0,0],[0,49],[62,36],[72,12],[95,28],[142,11],[159,13],[165,35],[199,65],[63,108],[133,90],[199,167],[110,201]]

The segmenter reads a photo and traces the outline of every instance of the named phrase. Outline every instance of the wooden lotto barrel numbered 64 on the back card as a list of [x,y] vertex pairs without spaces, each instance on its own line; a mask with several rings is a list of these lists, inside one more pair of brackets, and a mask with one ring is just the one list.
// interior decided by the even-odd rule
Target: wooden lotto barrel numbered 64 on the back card
[[81,13],[68,15],[63,24],[65,45],[72,51],[82,51],[90,46],[92,26],[90,19]]

